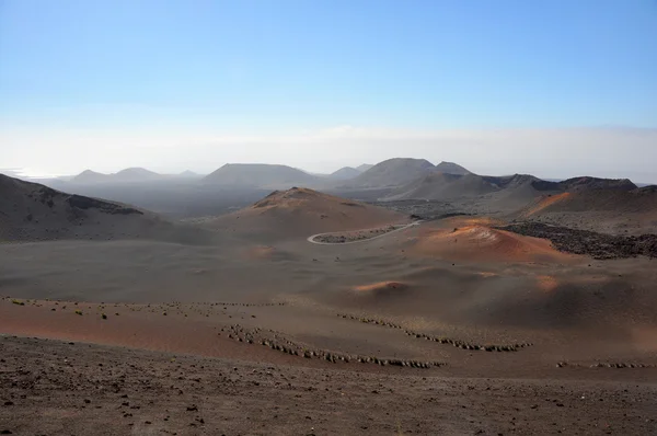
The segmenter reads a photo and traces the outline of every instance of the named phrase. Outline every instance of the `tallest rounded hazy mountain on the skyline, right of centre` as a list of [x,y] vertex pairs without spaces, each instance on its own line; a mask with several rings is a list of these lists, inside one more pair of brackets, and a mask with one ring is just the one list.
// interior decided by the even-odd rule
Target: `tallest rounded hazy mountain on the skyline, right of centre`
[[388,187],[401,186],[435,171],[431,162],[424,159],[395,158],[379,162],[356,179],[348,181],[346,187]]

